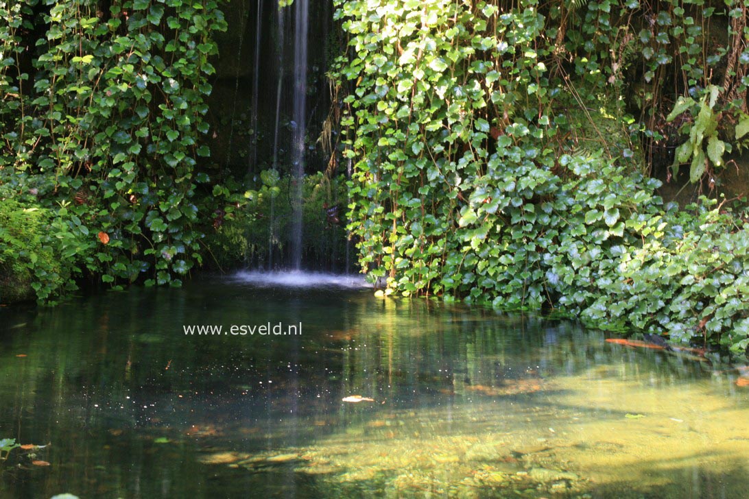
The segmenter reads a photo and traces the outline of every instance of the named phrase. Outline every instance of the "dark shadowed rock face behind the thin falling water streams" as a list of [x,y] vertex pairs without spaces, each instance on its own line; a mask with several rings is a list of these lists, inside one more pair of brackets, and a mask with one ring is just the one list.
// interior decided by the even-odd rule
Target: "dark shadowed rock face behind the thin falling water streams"
[[[279,170],[285,172],[291,163],[289,145],[295,125],[291,116],[294,8],[279,9],[274,0],[234,0],[224,5],[224,14],[228,30],[214,34],[219,56],[213,60],[216,74],[211,82],[213,91],[207,100],[211,127],[208,140],[210,162],[238,180],[247,174],[252,178],[273,165],[280,81],[276,156]],[[311,167],[309,171],[319,171],[327,163],[327,158],[323,158],[315,144],[330,108],[325,73],[339,52],[330,0],[310,2],[307,40],[306,144],[309,158],[306,163]],[[259,49],[258,64],[255,64],[256,49]],[[255,91],[257,106],[253,108]]]

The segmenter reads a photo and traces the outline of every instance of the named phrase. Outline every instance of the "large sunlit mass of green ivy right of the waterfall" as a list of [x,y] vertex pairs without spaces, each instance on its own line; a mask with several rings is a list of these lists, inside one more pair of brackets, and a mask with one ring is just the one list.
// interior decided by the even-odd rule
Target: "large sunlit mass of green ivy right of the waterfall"
[[[683,341],[705,333],[745,346],[745,312],[704,284],[717,275],[709,245],[739,245],[741,224],[704,207],[664,209],[628,141],[628,130],[648,128],[623,109],[638,51],[646,81],[662,82],[672,41],[703,47],[700,33],[677,33],[674,17],[688,14],[668,6],[634,37],[638,2],[336,1],[351,50],[335,75],[351,82],[341,121],[342,154],[355,162],[350,228],[369,278],[386,281],[383,296],[560,307],[602,328]],[[683,65],[683,83],[709,74],[700,57]],[[651,92],[643,101],[651,116],[660,99]],[[608,111],[610,102],[619,104]],[[717,112],[717,99],[706,103]],[[598,109],[622,121],[622,135],[595,126]],[[592,131],[571,116],[586,117]],[[700,144],[717,158],[705,124]],[[731,269],[745,267],[745,254],[720,253]],[[648,272],[637,266],[643,255]],[[700,284],[687,293],[671,272]],[[719,324],[697,327],[718,310]]]

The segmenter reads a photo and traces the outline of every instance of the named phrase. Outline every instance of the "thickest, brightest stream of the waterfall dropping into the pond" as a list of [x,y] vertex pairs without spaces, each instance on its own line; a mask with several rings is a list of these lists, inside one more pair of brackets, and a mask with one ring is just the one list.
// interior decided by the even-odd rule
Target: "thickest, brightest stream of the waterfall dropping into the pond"
[[309,0],[294,1],[294,137],[291,190],[291,268],[298,270],[302,264],[302,209],[304,179],[304,136],[306,132],[307,100],[307,30],[309,26]]

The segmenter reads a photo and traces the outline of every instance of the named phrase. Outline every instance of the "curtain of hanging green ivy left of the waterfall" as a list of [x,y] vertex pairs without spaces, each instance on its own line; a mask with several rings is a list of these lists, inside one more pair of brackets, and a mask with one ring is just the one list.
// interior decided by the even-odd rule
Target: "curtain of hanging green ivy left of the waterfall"
[[0,170],[38,184],[88,237],[86,251],[64,244],[64,258],[107,283],[178,284],[201,262],[199,196],[211,192],[196,165],[210,153],[210,34],[226,22],[214,0],[108,5],[0,1]]

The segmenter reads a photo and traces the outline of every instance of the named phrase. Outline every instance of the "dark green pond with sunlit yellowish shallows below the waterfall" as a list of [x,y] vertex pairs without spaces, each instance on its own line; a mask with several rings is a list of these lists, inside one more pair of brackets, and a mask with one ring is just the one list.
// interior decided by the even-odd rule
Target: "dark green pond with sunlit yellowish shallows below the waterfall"
[[25,444],[0,462],[0,495],[749,490],[738,370],[571,322],[295,282],[245,274],[0,309],[0,438]]

